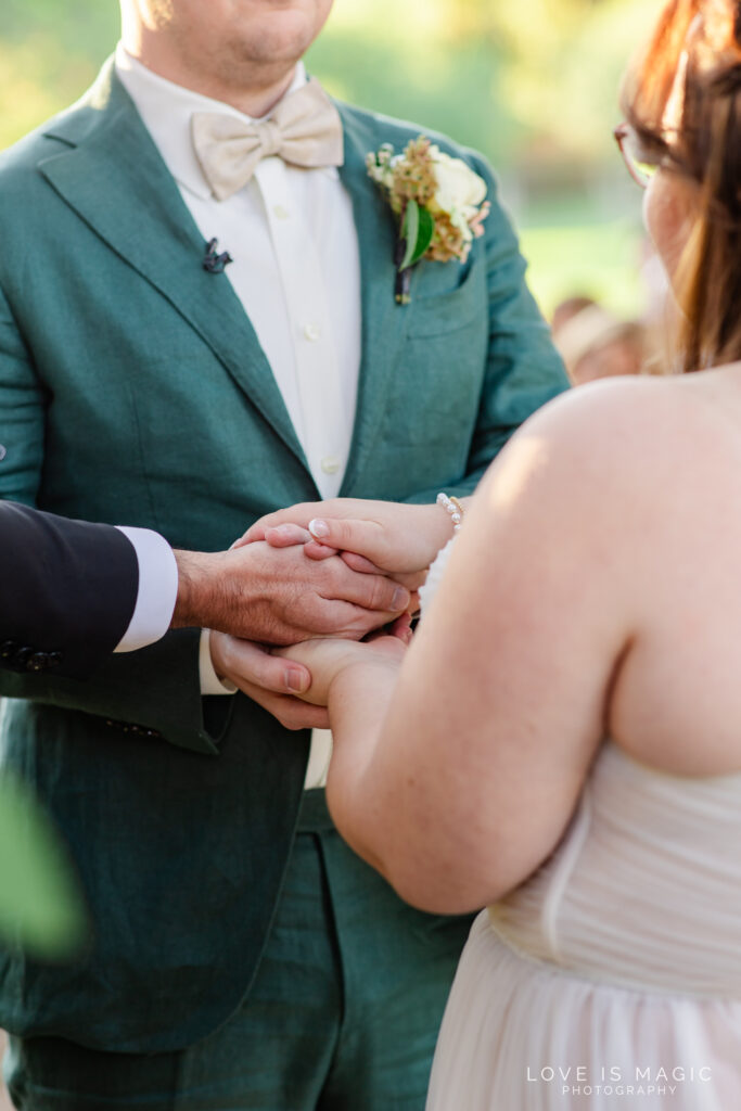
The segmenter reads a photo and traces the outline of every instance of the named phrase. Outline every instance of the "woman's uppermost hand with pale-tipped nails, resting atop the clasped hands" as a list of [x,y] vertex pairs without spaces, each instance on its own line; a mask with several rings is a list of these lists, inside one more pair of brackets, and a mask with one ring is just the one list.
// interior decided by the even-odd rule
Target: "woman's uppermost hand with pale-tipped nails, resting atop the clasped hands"
[[[328,527],[321,540],[316,531],[309,533],[312,521]],[[344,528],[348,521],[351,528]],[[353,570],[393,574],[414,590],[451,536],[450,517],[437,504],[336,498],[269,513],[256,521],[236,547],[258,540],[276,548],[308,542],[306,554],[314,560],[341,550],[344,562]]]

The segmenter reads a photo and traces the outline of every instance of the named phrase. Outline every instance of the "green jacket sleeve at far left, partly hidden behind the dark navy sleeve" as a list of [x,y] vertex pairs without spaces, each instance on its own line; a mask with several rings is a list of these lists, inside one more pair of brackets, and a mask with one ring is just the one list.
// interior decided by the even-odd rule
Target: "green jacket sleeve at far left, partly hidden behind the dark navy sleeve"
[[[47,397],[0,290],[0,500],[36,502],[43,464]],[[201,698],[200,630],[179,629],[139,652],[111,654],[86,680],[0,668],[0,694],[100,715],[111,729],[163,737],[181,748],[213,754],[220,711]],[[231,701],[231,700],[229,700]]]

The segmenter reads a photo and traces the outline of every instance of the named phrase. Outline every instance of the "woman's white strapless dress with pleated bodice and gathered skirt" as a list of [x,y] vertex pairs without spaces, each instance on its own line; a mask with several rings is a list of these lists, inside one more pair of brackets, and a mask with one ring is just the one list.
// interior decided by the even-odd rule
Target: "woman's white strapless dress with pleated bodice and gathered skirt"
[[477,918],[428,1111],[567,1108],[741,1109],[741,774],[605,741],[559,848]]

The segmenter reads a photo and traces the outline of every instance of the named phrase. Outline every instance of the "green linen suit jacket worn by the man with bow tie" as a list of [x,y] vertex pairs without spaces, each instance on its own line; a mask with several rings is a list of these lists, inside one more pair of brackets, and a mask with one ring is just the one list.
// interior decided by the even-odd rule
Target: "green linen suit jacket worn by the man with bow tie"
[[[342,496],[469,493],[564,389],[492,211],[467,263],[393,297],[394,220],[364,166],[419,130],[339,106],[362,267],[362,366]],[[218,550],[319,498],[254,330],[116,78],[0,156],[0,497]],[[230,249],[237,250],[233,244]],[[31,557],[31,553],[29,553]],[[202,698],[198,630],[88,681],[0,677],[2,752],[51,811],[94,935],[77,962],[0,954],[0,1025],[119,1051],[178,1049],[249,990],[280,893],[309,733],[242,694]]]

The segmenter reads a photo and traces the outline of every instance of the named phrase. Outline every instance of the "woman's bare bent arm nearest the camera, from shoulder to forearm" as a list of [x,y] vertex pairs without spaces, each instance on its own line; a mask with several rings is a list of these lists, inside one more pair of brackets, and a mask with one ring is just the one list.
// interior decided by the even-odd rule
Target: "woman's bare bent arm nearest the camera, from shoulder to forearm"
[[471,910],[524,880],[602,735],[634,565],[630,504],[605,498],[619,457],[582,408],[555,403],[492,467],[398,682],[356,645],[329,684],[337,825],[427,910]]

